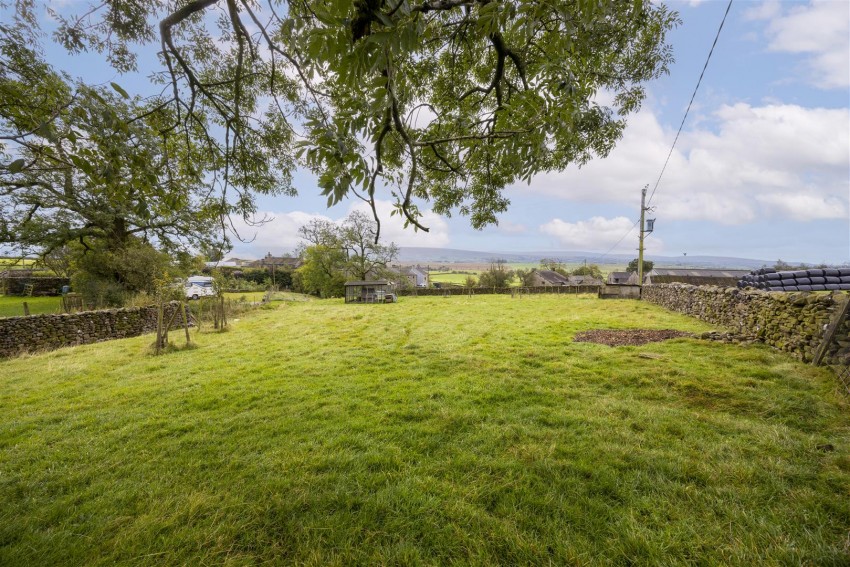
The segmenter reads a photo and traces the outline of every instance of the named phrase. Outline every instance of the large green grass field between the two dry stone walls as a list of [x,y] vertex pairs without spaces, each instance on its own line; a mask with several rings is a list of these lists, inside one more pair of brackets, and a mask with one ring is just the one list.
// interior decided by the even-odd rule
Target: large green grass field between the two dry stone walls
[[0,363],[2,565],[847,565],[850,407],[590,296],[283,302]]

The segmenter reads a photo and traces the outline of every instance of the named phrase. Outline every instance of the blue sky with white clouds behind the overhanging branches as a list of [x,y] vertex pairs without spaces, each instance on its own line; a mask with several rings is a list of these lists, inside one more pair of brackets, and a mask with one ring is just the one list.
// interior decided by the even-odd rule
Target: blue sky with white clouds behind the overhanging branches
[[[388,239],[402,246],[493,252],[637,247],[640,190],[655,182],[696,85],[725,0],[668,2],[682,25],[669,39],[676,62],[648,85],[641,111],[606,159],[510,187],[499,226],[477,231],[461,216],[426,213],[430,233],[404,230],[379,203]],[[87,82],[115,80],[147,94],[143,77],[120,77],[95,56],[48,50]],[[606,94],[599,93],[600,102]],[[315,216],[341,219],[360,204],[328,209],[314,179],[295,176],[297,197],[261,198],[274,220],[231,255],[289,252]],[[652,201],[648,252],[845,263],[850,261],[850,2],[733,3],[676,149]],[[421,204],[427,210],[427,203]],[[256,234],[254,234],[256,233]]]

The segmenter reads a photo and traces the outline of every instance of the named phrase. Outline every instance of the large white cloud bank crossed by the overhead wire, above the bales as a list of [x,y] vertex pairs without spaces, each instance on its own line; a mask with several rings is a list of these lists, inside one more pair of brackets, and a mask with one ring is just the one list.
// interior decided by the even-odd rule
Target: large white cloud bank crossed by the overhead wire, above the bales
[[[739,103],[709,118],[679,139],[653,199],[659,218],[724,224],[846,218],[848,109]],[[607,159],[537,176],[517,190],[637,210],[640,189],[654,186],[674,135],[644,109]],[[798,198],[791,205],[787,196]]]

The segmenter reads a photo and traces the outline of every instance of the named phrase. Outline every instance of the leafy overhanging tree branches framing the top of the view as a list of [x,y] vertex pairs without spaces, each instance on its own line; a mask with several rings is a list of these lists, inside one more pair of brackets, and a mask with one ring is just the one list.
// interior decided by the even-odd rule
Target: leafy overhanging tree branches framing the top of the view
[[[37,23],[32,3],[16,3],[19,25]],[[508,185],[607,155],[678,21],[648,0],[110,0],[54,18],[67,49],[119,71],[157,46],[149,107],[200,140],[242,212],[290,190],[300,159],[329,204],[354,195],[374,213],[389,192],[422,230],[420,203],[480,228]]]

